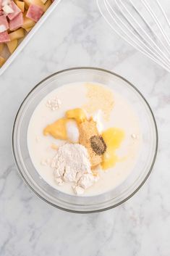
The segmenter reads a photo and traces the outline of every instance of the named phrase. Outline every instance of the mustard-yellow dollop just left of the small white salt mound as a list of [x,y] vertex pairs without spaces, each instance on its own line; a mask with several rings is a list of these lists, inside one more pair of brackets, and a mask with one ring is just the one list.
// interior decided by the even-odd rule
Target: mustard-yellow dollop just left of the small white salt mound
[[55,139],[67,139],[66,123],[66,118],[56,120],[56,122],[47,125],[46,128],[43,129],[43,135],[51,135]]

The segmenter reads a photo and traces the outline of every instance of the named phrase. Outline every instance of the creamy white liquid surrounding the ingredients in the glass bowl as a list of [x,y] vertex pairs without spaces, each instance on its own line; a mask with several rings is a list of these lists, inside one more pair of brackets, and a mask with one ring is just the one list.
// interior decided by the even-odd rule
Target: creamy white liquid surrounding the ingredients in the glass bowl
[[[106,88],[109,89],[108,87]],[[52,136],[43,136],[43,129],[46,125],[64,117],[67,110],[81,108],[86,104],[88,102],[86,94],[85,83],[68,84],[56,88],[35,108],[27,131],[27,146],[35,169],[48,184],[67,194],[74,194],[72,183],[64,183],[62,186],[56,184],[53,170],[48,165],[48,162],[56,154],[51,145],[59,146],[64,142],[54,139]],[[117,94],[116,91],[111,90],[111,94],[114,97],[114,108],[111,111],[110,120],[103,123],[103,130],[111,127],[124,130],[125,139],[116,151],[116,154],[122,157],[122,161],[117,162],[114,168],[107,171],[99,170],[100,179],[85,190],[85,196],[102,194],[119,186],[132,172],[142,145],[140,122],[132,105],[127,102],[127,99]],[[61,107],[52,111],[46,106],[46,102],[56,96],[61,101]]]

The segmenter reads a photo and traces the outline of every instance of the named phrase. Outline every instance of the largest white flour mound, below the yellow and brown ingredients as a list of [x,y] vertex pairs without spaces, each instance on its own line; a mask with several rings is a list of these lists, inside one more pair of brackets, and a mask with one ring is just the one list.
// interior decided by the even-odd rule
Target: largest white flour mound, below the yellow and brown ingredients
[[59,146],[56,156],[51,162],[56,183],[72,182],[75,194],[83,194],[85,189],[98,180],[90,169],[90,160],[85,146],[80,144],[64,144]]

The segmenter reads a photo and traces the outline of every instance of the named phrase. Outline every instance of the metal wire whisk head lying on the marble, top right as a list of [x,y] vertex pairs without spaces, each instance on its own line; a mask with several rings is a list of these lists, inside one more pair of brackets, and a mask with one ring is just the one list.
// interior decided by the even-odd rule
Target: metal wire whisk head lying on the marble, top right
[[159,0],[96,0],[111,28],[170,72],[170,22]]

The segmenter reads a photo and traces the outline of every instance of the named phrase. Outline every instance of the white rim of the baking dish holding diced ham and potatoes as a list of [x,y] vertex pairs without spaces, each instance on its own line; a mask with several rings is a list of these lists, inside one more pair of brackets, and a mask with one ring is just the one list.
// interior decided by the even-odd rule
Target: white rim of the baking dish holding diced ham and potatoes
[[46,20],[48,15],[53,12],[53,10],[56,8],[56,6],[59,4],[61,0],[54,0],[54,2],[51,4],[51,6],[47,9],[47,11],[44,13],[44,15],[41,17],[40,20],[35,24],[32,30],[30,30],[29,33],[25,36],[23,41],[20,43],[20,45],[17,47],[17,49],[12,53],[12,55],[7,59],[7,61],[4,63],[2,67],[0,67],[0,75],[4,73],[4,71],[9,67],[9,65],[13,62],[13,60],[17,57],[17,55],[22,51],[22,49],[26,46],[26,44],[30,41],[30,38],[35,34],[35,32],[38,30],[38,28],[41,27],[43,22]]

